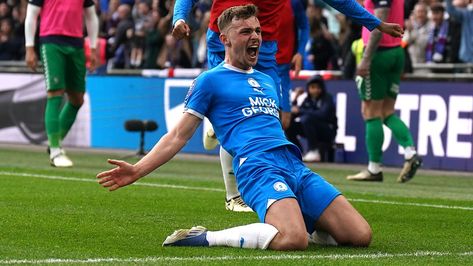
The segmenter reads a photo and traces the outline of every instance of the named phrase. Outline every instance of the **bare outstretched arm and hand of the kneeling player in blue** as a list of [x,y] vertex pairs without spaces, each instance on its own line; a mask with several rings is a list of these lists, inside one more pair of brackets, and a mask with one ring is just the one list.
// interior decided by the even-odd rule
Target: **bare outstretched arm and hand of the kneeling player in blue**
[[178,124],[164,135],[153,149],[140,161],[132,165],[124,161],[108,160],[116,167],[97,174],[99,184],[110,191],[133,184],[141,177],[165,164],[186,145],[199,127],[201,119],[184,113]]

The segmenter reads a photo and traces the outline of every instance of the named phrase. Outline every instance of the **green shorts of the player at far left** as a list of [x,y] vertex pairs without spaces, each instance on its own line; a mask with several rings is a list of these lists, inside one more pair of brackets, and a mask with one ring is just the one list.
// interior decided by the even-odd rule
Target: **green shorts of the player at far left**
[[45,43],[41,45],[46,87],[49,90],[85,92],[84,49]]

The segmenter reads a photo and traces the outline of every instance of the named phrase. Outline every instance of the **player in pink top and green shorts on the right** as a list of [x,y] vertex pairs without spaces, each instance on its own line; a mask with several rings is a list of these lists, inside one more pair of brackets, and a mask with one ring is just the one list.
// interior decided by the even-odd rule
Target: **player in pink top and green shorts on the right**
[[[380,20],[403,25],[404,0],[366,0],[365,8]],[[404,166],[397,179],[404,183],[412,179],[422,164],[417,155],[409,128],[394,111],[399,83],[404,69],[401,38],[374,30],[363,29],[364,53],[357,68],[356,83],[362,100],[361,113],[365,121],[368,169],[347,176],[353,181],[383,181],[383,124],[404,148]]]

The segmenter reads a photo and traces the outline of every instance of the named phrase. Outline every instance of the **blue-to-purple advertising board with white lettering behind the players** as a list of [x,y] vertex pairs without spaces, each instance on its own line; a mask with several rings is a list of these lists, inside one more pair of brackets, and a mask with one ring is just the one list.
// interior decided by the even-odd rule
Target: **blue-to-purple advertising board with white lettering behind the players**
[[[153,145],[178,121],[192,79],[89,76],[91,146],[138,147],[139,133],[127,132],[129,119],[155,120],[159,128],[147,132],[145,148]],[[304,86],[294,81],[294,86]],[[364,123],[354,81],[327,81],[337,104],[337,143],[345,148],[347,163],[367,163]],[[396,111],[409,126],[425,168],[473,171],[473,86],[467,82],[404,81]],[[199,128],[184,148],[188,153],[217,154],[202,147]],[[385,128],[383,163],[400,166],[403,150]]]

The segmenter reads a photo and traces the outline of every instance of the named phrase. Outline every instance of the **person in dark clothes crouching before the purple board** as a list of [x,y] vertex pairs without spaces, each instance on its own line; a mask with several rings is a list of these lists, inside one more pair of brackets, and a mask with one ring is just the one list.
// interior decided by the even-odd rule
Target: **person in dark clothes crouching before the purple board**
[[291,111],[293,119],[286,132],[287,138],[301,151],[304,149],[299,138],[305,138],[308,151],[302,160],[320,161],[320,150],[325,148],[322,145],[334,144],[338,128],[335,102],[321,76],[309,79],[305,90],[296,89]]

